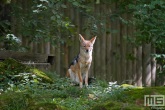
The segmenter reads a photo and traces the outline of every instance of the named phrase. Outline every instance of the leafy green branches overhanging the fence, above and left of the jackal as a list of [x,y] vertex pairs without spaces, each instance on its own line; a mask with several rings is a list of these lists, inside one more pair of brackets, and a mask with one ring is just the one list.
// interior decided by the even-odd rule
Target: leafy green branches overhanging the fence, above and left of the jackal
[[[108,2],[107,0],[105,0]],[[99,26],[101,31],[106,31],[103,28],[105,25],[106,14],[102,18],[100,14],[95,13],[94,4],[101,2],[90,1],[75,1],[75,0],[38,0],[26,2],[12,2],[10,16],[14,18],[14,24],[9,26],[15,28],[16,34],[23,38],[28,37],[34,42],[51,42],[53,45],[67,43],[71,45],[71,38],[76,34],[77,28],[82,28],[84,32],[92,35],[99,34]],[[82,27],[75,24],[72,18],[69,17],[68,10],[73,9],[76,13],[85,17],[86,23]],[[10,23],[10,21],[8,21]],[[3,25],[4,30],[9,30],[3,33],[5,36],[12,32],[8,27]],[[108,30],[108,29],[107,29]]]

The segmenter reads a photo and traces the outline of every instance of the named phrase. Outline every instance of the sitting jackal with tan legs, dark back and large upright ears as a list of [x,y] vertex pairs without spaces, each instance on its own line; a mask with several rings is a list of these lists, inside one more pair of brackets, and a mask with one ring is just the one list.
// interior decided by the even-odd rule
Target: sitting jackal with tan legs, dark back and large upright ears
[[74,58],[67,70],[67,76],[73,82],[79,83],[80,88],[83,87],[83,81],[88,86],[88,71],[92,63],[93,44],[96,37],[91,40],[85,40],[81,34],[80,38],[80,53]]

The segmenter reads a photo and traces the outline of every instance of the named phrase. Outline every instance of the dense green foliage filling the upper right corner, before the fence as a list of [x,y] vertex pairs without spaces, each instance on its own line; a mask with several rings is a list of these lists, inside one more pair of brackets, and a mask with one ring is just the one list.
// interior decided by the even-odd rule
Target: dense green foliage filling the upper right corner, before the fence
[[136,43],[152,43],[162,49],[165,44],[165,2],[163,0],[136,0],[130,3],[128,8],[133,14],[130,23],[136,27]]

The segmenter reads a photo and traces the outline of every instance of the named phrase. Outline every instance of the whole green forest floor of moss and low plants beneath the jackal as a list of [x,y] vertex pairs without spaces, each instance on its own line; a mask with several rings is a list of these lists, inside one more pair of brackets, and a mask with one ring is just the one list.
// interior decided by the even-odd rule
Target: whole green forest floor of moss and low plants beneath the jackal
[[0,110],[150,110],[144,106],[144,96],[165,95],[165,87],[141,88],[97,79],[80,89],[55,72],[26,68],[25,73],[16,65],[21,68],[11,59],[0,64]]

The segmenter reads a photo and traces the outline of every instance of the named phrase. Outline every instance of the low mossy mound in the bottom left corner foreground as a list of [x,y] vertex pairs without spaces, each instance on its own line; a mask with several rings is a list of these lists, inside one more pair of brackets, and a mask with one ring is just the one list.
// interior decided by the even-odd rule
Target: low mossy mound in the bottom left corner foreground
[[[43,99],[45,97],[38,97]],[[27,92],[9,92],[0,95],[0,110],[66,110],[55,103],[43,102]]]

